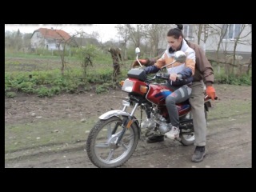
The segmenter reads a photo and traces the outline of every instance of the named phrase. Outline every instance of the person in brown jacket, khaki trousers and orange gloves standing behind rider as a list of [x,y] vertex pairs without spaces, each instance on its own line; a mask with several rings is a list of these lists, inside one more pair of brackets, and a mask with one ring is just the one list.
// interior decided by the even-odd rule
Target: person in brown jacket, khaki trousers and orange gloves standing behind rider
[[[190,95],[190,105],[194,123],[194,146],[196,147],[191,160],[192,162],[201,162],[206,155],[206,118],[204,113],[204,87],[202,82],[206,85],[206,94],[214,100],[216,97],[213,87],[214,70],[200,46],[192,42],[187,42],[187,44],[195,51],[196,55],[194,80],[192,82],[192,93]],[[147,64],[147,66],[150,66],[156,61],[152,59],[141,59],[140,62],[142,65]],[[133,66],[137,66],[137,63],[138,62],[135,61]],[[146,141],[151,143],[162,142],[163,140],[163,135],[153,135],[147,138]]]

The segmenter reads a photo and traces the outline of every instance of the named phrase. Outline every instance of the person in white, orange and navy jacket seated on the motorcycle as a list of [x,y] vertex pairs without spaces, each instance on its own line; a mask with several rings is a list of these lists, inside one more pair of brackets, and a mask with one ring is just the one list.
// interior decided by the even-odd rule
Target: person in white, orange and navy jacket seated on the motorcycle
[[170,66],[166,66],[170,79],[167,85],[174,90],[166,97],[166,108],[168,110],[170,124],[165,135],[174,139],[179,137],[179,118],[176,103],[184,102],[190,98],[191,84],[195,67],[195,52],[191,49],[183,38],[182,30],[174,28],[167,33],[168,47],[161,58],[152,66],[147,66],[144,70],[146,74],[157,73],[162,66],[166,66],[174,61],[174,53],[182,50],[186,54],[186,62],[174,62]]

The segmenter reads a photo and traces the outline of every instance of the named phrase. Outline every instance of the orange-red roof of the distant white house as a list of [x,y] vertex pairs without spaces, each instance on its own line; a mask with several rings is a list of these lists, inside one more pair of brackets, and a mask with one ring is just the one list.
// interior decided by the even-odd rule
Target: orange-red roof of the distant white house
[[65,41],[71,38],[70,34],[66,33],[64,30],[39,28],[34,32],[40,32],[44,38],[52,38],[52,39],[59,39],[59,40],[62,40],[64,38]]

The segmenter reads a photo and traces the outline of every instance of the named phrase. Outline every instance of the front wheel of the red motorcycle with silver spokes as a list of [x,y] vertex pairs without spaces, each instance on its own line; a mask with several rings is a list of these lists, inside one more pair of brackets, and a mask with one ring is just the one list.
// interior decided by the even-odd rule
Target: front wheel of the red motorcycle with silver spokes
[[[118,125],[114,134],[114,126]],[[122,119],[111,117],[107,120],[99,120],[90,130],[86,141],[86,152],[90,161],[99,168],[115,168],[122,166],[134,153],[138,145],[138,126],[132,123],[126,129],[120,145],[114,144],[118,135],[122,132]]]

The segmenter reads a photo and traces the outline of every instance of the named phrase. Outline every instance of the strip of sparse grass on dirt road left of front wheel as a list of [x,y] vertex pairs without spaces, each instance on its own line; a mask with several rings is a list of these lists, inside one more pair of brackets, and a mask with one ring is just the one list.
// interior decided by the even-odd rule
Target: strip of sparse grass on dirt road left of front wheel
[[96,121],[98,121],[98,118],[90,118],[86,122],[70,121],[70,119],[55,121],[40,119],[33,123],[7,124],[5,125],[5,153],[40,146],[84,142]]

